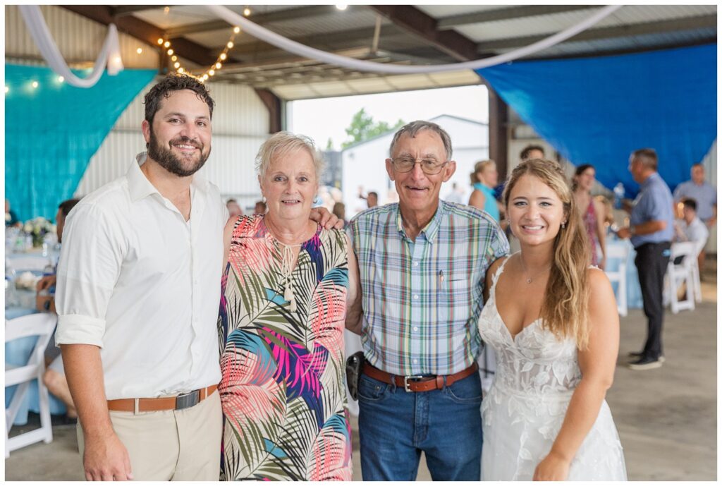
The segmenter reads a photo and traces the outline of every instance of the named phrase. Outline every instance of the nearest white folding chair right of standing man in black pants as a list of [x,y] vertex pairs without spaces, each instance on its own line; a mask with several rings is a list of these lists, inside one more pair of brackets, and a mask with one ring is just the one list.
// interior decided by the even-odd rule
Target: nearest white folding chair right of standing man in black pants
[[[680,259],[679,263],[674,261]],[[669,263],[667,264],[667,273],[664,285],[664,301],[669,302],[672,313],[676,314],[684,309],[693,311],[695,309],[695,295],[697,294],[697,285],[695,285],[695,268],[697,267],[697,248],[692,241],[682,241],[672,243]],[[697,278],[699,270],[697,270]],[[687,292],[684,300],[677,298],[677,289],[686,284]],[[700,292],[701,294],[701,292]]]

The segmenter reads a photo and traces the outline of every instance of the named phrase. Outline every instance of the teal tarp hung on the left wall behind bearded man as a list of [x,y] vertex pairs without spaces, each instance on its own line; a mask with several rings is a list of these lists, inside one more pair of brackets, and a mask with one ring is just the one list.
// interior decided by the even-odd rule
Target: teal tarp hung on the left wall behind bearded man
[[59,82],[47,67],[5,64],[5,197],[20,220],[55,217],[118,116],[156,72],[106,73],[83,89]]

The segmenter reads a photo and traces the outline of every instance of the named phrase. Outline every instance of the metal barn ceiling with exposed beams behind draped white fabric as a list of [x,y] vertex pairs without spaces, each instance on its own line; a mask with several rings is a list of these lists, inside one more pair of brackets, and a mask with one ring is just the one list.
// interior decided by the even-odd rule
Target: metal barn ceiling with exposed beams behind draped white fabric
[[[243,14],[246,6],[229,6]],[[72,12],[157,45],[172,42],[186,69],[217,61],[232,25],[204,6],[69,5]],[[586,19],[592,5],[250,5],[272,32],[323,51],[379,63],[448,64],[513,51]],[[535,59],[605,56],[717,41],[716,5],[622,6],[597,25],[536,53]],[[243,32],[216,80],[269,90],[281,100],[479,84],[473,71],[389,75],[299,58]],[[531,59],[525,58],[525,59]],[[160,68],[173,69],[168,56]]]

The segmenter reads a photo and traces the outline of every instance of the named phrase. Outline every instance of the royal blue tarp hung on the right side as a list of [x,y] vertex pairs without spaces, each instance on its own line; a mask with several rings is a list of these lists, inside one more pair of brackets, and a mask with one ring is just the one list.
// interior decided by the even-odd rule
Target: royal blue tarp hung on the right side
[[717,134],[717,45],[623,56],[513,62],[480,69],[494,90],[567,160],[592,164],[607,188],[635,149],[651,147],[674,189]]

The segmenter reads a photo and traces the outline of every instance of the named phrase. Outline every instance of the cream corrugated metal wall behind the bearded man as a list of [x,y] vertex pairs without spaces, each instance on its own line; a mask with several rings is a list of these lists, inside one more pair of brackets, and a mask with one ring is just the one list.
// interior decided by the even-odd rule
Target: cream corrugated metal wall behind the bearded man
[[[92,65],[103,45],[108,27],[58,6],[41,6],[45,22],[68,64]],[[127,69],[155,69],[156,46],[120,34],[121,56]],[[137,53],[137,48],[142,53]],[[6,61],[17,64],[45,64],[25,28],[17,6],[5,7]],[[140,129],[144,118],[143,97],[149,84],[130,103],[116,125],[93,155],[76,191],[82,196],[126,173],[131,160],[145,149]],[[239,199],[248,207],[260,199],[253,169],[258,147],[266,140],[269,113],[249,87],[209,83],[216,102],[213,114],[213,144],[201,173],[219,186],[222,194]]]

